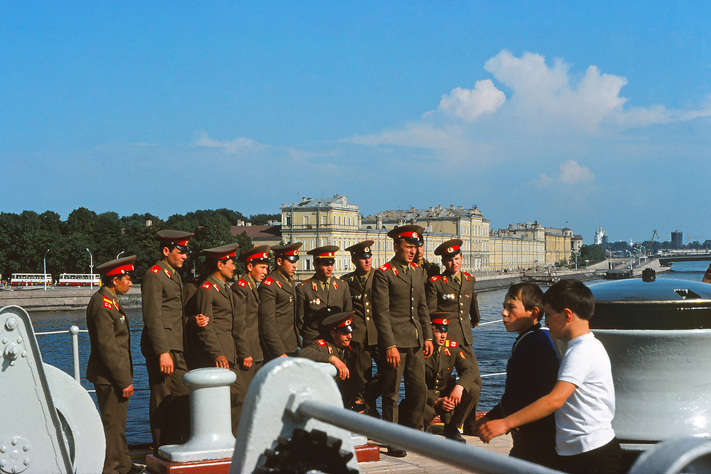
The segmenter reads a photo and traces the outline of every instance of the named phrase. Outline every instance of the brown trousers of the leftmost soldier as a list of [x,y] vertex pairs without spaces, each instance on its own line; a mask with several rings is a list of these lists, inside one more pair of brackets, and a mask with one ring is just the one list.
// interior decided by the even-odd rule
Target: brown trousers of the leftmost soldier
[[133,465],[126,441],[129,399],[124,398],[122,392],[115,389],[113,385],[94,384],[94,388],[106,437],[106,458],[102,473],[126,474]]

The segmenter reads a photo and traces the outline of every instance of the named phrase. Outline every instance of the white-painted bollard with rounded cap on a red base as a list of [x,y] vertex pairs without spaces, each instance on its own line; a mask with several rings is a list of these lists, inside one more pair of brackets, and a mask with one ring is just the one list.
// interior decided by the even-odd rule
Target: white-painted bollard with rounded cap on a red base
[[205,459],[231,458],[235,451],[232,436],[230,385],[237,376],[218,367],[196,369],[183,377],[190,387],[191,436],[185,444],[159,448],[159,456],[184,463]]

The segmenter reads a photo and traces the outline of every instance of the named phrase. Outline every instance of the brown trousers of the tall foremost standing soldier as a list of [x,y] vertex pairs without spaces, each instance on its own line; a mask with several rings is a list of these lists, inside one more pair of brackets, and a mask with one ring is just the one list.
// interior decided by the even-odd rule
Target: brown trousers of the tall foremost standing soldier
[[400,395],[400,381],[405,376],[405,397],[411,404],[407,419],[400,424],[422,431],[424,404],[427,401],[427,386],[424,384],[424,354],[422,348],[397,348],[400,365],[390,367],[383,364],[383,419],[398,422],[397,402]]

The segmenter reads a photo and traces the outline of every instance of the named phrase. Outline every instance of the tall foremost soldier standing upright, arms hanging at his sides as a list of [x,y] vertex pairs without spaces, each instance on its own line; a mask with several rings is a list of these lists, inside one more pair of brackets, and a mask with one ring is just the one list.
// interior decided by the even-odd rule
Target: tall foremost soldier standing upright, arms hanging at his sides
[[[432,355],[432,329],[424,296],[427,278],[422,268],[412,262],[422,230],[419,225],[405,225],[387,232],[394,240],[395,257],[373,275],[373,317],[386,362],[381,374],[383,419],[398,422],[398,395],[404,375],[405,397],[412,409],[402,424],[419,430],[423,429],[427,399],[424,359]],[[388,446],[387,453],[407,456],[404,449],[395,446]]]

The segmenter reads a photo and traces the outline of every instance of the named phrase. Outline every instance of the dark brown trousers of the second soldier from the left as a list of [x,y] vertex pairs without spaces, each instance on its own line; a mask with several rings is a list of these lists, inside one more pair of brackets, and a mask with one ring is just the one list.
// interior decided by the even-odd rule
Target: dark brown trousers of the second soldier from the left
[[160,446],[182,444],[190,438],[190,390],[183,383],[188,369],[183,352],[171,351],[170,354],[173,359],[173,373],[170,375],[161,372],[158,357],[146,359],[151,389],[148,414],[155,454]]

